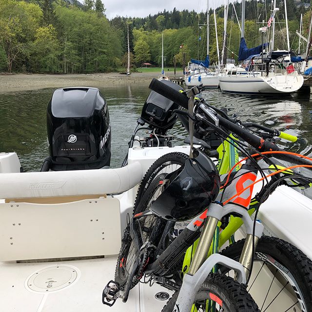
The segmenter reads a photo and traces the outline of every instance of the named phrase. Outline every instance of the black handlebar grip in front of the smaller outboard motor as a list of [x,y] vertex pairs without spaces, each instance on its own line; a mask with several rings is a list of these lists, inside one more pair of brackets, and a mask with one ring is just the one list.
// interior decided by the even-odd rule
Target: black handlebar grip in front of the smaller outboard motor
[[156,93],[160,94],[165,98],[169,98],[170,100],[174,101],[176,104],[181,105],[182,107],[188,109],[189,99],[185,94],[171,88],[167,84],[153,78],[151,81],[149,88]]

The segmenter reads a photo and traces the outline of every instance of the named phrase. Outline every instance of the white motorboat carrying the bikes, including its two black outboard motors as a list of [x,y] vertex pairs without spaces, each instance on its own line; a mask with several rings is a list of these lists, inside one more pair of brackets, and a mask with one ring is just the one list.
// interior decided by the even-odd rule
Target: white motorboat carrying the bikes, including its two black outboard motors
[[[164,285],[138,283],[126,304],[119,300],[113,307],[103,306],[102,290],[114,279],[122,233],[146,171],[162,155],[190,151],[188,145],[172,147],[166,136],[177,120],[177,107],[151,92],[124,166],[99,170],[110,158],[106,101],[96,88],[59,89],[47,110],[50,156],[44,172],[21,173],[15,153],[0,154],[3,311],[161,311],[172,294]],[[144,124],[151,136],[139,138],[137,131]],[[266,234],[290,241],[310,258],[311,240],[302,237],[311,228],[311,203],[281,186],[259,213]],[[298,223],[288,217],[294,211]]]

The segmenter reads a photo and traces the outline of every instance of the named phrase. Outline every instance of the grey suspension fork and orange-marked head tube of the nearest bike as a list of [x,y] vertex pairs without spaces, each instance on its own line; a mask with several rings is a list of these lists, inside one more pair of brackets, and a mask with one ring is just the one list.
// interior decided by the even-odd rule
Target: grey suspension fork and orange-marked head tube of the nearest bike
[[[255,166],[252,166],[251,161],[247,160],[246,164],[242,165],[241,169],[236,173],[235,176],[238,177],[224,191],[223,197],[226,200],[236,195],[244,187],[251,186],[250,188],[246,189],[242,194],[235,196],[232,202],[224,206],[218,202],[212,203],[202,215],[195,217],[188,225],[188,229],[196,231],[201,223],[204,222],[203,219],[205,219],[189,271],[183,278],[182,287],[176,301],[176,311],[191,311],[196,293],[211,270],[218,263],[233,269],[235,271],[235,278],[239,283],[246,282],[251,268],[253,244],[254,248],[256,248],[257,242],[263,232],[263,225],[260,221],[257,221],[253,235],[254,221],[247,212],[252,199],[252,184],[257,177],[257,171],[251,171],[254,171],[254,169]],[[239,263],[220,254],[210,254],[210,249],[213,249],[212,243],[215,232],[218,231],[218,222],[220,222],[224,215],[231,213],[242,216],[239,219],[242,223],[244,222],[247,233]],[[229,232],[229,234],[231,233]]]

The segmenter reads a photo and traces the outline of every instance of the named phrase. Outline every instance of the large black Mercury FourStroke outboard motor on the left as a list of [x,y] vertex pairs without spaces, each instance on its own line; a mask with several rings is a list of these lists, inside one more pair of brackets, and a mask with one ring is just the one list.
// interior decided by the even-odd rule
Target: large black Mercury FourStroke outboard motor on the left
[[97,88],[54,91],[47,108],[50,156],[41,171],[100,169],[110,165],[111,127]]

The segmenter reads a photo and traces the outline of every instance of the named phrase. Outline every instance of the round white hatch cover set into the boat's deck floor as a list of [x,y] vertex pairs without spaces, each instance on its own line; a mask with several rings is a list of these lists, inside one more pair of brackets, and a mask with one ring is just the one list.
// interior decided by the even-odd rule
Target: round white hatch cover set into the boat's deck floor
[[31,274],[25,286],[32,292],[56,292],[78,280],[79,270],[69,265],[46,267]]

